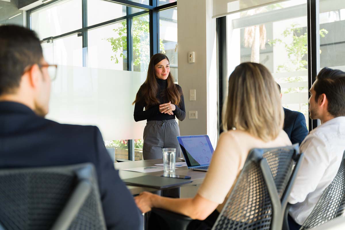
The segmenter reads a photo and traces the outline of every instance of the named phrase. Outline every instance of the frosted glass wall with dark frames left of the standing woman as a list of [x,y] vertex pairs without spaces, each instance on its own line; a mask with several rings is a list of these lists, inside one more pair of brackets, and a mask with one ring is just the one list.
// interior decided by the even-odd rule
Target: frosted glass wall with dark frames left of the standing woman
[[[46,60],[59,65],[47,118],[97,125],[114,161],[128,159],[129,144],[141,160],[146,122],[134,121],[131,103],[146,79],[150,26],[161,28],[160,51],[169,53],[177,70],[176,7],[157,12],[157,23],[150,22],[148,10],[104,0],[61,0],[28,13]],[[177,71],[174,76],[177,81]]]

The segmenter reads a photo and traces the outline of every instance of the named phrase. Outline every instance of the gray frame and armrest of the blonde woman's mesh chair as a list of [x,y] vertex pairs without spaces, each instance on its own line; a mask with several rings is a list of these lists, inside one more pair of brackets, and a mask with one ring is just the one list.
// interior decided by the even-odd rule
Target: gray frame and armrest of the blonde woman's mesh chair
[[[293,154],[291,156],[290,165],[292,167],[293,161],[296,161],[296,165],[293,170],[290,170],[291,173],[286,175],[286,186],[283,190],[283,193],[279,196],[277,192],[276,183],[274,180],[274,177],[272,175],[272,171],[269,167],[269,164],[267,160],[263,157],[263,154],[268,151],[274,151],[277,149],[289,149],[293,151]],[[295,144],[294,146],[287,146],[287,147],[279,147],[279,148],[269,148],[269,149],[252,149],[245,162],[244,168],[250,164],[255,163],[257,167],[259,167],[260,171],[262,172],[263,179],[266,185],[266,188],[268,190],[269,198],[270,198],[270,205],[272,206],[272,220],[270,220],[269,229],[276,230],[281,229],[283,225],[283,217],[284,217],[284,210],[287,205],[288,197],[291,192],[293,182],[296,178],[296,174],[298,172],[298,169],[300,167],[300,164],[303,159],[303,153],[299,154],[298,144]],[[290,167],[290,166],[288,166]],[[291,168],[290,168],[291,169]],[[217,218],[216,223],[213,226],[213,230],[215,229],[223,229],[218,228],[217,225],[221,221],[221,218],[223,217],[223,213],[227,209],[227,204],[230,204],[231,199],[236,199],[235,194],[236,193],[236,187],[239,186],[241,177],[243,177],[244,171],[242,170],[236,184],[234,186],[233,191],[231,192],[223,210],[219,214],[219,217]],[[231,207],[230,207],[231,208]],[[186,217],[184,215],[180,215],[178,213],[173,213],[167,210],[162,209],[152,209],[152,212],[160,216],[164,221],[167,222],[167,226],[169,226],[169,229],[182,229],[185,230],[188,227],[189,222],[192,220],[189,217]],[[236,228],[240,229],[240,228]],[[252,228],[245,228],[245,229],[252,229]],[[254,228],[253,228],[254,229]],[[260,229],[260,228],[255,228]]]

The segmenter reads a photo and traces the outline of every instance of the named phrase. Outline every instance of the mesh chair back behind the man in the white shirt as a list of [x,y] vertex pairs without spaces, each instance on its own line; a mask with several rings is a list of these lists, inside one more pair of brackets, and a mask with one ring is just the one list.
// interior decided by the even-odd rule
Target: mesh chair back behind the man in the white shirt
[[345,151],[337,175],[325,189],[302,229],[315,228],[345,214]]

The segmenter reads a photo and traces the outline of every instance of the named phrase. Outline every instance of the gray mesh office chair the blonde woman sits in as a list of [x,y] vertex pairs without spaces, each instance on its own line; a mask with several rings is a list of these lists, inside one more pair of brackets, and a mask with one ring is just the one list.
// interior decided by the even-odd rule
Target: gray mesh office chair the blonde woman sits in
[[[283,213],[303,154],[298,145],[252,149],[213,230],[281,229]],[[292,166],[296,161],[296,166]],[[152,209],[167,226],[187,229],[190,218]],[[172,215],[178,219],[172,219]],[[174,221],[174,222],[171,222]],[[174,228],[170,228],[174,229]],[[177,228],[175,228],[177,229]]]

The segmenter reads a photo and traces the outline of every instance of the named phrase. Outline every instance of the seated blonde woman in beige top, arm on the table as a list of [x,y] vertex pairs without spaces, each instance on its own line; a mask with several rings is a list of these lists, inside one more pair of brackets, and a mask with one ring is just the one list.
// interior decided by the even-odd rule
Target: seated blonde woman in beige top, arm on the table
[[203,184],[194,198],[172,199],[143,192],[135,197],[142,212],[152,207],[189,216],[191,229],[210,229],[223,208],[252,148],[291,145],[283,131],[284,111],[277,84],[262,64],[238,65],[229,77],[224,130]]

